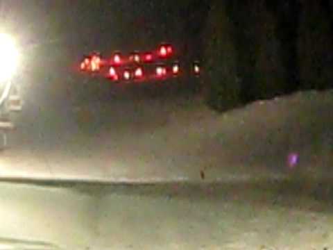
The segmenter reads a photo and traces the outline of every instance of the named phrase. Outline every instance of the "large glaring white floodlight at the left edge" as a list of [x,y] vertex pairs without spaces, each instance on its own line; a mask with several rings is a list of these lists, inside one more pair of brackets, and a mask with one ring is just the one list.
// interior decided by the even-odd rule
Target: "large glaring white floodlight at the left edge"
[[0,82],[8,81],[19,66],[19,51],[9,35],[0,33]]

